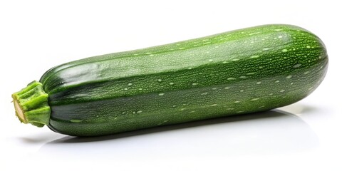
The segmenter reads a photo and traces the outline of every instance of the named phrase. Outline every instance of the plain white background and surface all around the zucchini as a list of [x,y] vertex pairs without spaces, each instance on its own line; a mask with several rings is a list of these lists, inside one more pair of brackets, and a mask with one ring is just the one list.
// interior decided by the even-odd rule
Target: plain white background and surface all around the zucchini
[[[1,1],[0,170],[342,170],[338,1]],[[326,79],[259,115],[73,138],[19,123],[11,93],[89,56],[261,24],[294,24],[328,49]]]

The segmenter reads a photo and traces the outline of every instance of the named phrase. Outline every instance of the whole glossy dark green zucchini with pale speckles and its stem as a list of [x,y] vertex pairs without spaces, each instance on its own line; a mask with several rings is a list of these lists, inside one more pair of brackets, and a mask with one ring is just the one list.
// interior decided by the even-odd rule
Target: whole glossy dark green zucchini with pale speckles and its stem
[[109,135],[289,105],[327,68],[317,36],[274,24],[72,61],[12,97],[22,123]]

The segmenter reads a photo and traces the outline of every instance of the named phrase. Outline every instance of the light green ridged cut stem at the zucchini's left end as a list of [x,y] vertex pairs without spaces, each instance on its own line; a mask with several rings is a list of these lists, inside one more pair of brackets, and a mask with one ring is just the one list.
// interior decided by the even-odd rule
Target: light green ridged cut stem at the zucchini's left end
[[48,105],[48,94],[43,85],[33,81],[26,88],[12,94],[16,116],[21,123],[31,123],[37,127],[48,125],[51,108]]

